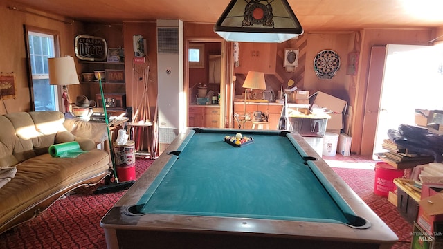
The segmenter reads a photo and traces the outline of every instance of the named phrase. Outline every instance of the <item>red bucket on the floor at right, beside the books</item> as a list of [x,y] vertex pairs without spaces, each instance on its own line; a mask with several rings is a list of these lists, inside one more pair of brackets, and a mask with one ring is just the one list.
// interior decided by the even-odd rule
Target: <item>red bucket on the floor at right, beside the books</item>
[[374,194],[388,197],[389,192],[395,191],[395,178],[401,178],[404,175],[403,169],[396,169],[388,163],[375,164]]

